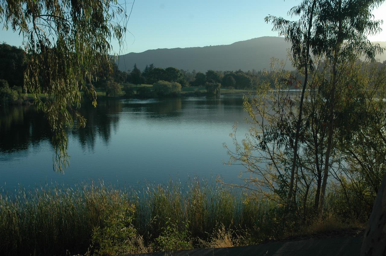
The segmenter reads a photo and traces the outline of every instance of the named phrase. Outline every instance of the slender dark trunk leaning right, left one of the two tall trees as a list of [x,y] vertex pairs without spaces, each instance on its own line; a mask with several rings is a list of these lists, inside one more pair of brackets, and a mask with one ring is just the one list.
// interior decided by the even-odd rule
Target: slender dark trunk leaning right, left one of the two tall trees
[[304,94],[305,94],[307,83],[308,83],[308,62],[309,62],[309,56],[310,56],[310,37],[311,37],[311,28],[312,28],[312,20],[313,20],[313,13],[314,13],[315,5],[316,5],[316,0],[314,0],[312,3],[310,20],[308,22],[307,44],[306,44],[307,52],[306,52],[305,62],[304,62],[305,79],[304,79],[304,84],[303,84],[303,90],[301,91],[301,97],[300,97],[298,122],[296,123],[296,134],[295,134],[295,143],[294,143],[294,147],[293,147],[291,178],[289,180],[288,197],[287,197],[287,201],[286,201],[286,206],[284,208],[283,224],[285,222],[286,215],[288,214],[288,208],[289,208],[289,204],[291,203],[291,198],[292,198],[292,193],[293,193],[296,159],[297,159],[297,154],[298,154],[299,133],[300,133],[300,126],[301,126],[301,118],[303,115],[303,100],[304,100]]

